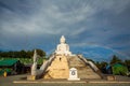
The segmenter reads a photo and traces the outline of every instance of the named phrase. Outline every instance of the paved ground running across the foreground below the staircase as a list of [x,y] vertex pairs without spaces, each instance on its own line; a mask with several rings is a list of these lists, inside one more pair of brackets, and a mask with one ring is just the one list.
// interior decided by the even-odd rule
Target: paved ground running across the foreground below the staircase
[[66,80],[26,81],[27,75],[0,76],[0,86],[130,86],[130,77],[116,76],[116,81],[81,80],[70,82]]

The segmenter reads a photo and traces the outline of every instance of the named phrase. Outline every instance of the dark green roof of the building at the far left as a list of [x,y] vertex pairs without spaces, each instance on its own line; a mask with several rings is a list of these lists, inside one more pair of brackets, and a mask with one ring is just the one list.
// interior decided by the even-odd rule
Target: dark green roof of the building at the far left
[[13,66],[17,61],[18,61],[17,59],[4,59],[0,61],[0,67]]

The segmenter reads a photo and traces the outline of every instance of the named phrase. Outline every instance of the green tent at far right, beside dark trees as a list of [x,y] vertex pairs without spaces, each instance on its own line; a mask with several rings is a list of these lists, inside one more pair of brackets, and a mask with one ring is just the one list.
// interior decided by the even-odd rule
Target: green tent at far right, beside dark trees
[[128,68],[121,63],[115,63],[112,66],[113,74],[115,75],[127,75]]

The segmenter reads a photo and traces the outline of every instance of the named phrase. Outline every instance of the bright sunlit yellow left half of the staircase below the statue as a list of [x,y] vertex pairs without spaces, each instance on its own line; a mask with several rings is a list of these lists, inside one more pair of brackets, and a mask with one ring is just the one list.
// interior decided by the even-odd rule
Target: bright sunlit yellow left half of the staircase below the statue
[[68,78],[69,68],[66,56],[56,56],[46,70],[43,78]]

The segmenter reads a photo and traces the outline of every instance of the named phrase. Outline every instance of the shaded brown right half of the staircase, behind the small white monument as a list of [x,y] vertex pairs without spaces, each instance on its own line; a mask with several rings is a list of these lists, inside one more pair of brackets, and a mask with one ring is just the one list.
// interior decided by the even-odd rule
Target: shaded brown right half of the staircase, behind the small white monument
[[68,57],[68,66],[70,68],[76,68],[78,71],[78,77],[80,78],[101,78],[101,76],[94,72],[94,70],[82,61],[78,56]]

